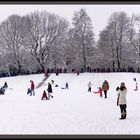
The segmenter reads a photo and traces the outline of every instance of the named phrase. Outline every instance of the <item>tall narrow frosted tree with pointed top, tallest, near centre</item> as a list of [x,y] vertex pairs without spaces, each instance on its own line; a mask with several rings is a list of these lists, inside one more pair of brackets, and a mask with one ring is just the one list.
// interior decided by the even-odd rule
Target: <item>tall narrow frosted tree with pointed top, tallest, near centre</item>
[[73,17],[74,42],[77,48],[77,60],[83,65],[84,71],[94,44],[92,22],[85,9],[75,12]]

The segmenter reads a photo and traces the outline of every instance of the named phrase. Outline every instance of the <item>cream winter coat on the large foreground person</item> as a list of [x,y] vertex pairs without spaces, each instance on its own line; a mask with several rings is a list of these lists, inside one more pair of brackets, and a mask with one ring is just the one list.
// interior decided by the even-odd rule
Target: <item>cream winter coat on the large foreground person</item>
[[124,105],[126,104],[126,94],[127,94],[127,89],[118,90],[118,96],[119,96],[119,105]]

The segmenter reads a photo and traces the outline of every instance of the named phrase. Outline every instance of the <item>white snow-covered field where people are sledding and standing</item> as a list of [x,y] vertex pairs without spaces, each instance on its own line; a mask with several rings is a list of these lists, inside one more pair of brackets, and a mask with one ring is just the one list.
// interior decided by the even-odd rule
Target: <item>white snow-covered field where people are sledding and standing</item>
[[[140,91],[134,91],[136,73],[83,73],[52,74],[36,95],[26,94],[30,80],[38,85],[43,74],[0,78],[0,86],[7,81],[5,95],[0,95],[0,134],[140,134]],[[41,100],[47,83],[54,80],[52,100]],[[97,91],[103,81],[110,85],[108,98],[87,92]],[[61,89],[65,82],[69,90]],[[119,120],[120,108],[116,106],[116,87],[126,83],[127,119]]]

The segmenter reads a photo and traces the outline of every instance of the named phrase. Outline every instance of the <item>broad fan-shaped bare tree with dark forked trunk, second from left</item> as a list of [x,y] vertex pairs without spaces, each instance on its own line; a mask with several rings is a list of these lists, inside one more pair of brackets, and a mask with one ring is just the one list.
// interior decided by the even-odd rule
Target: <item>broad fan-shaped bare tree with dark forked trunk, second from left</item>
[[[52,61],[52,54],[55,52],[56,44],[64,37],[68,22],[47,12],[34,12],[27,15],[28,35],[27,42],[31,54],[37,59],[44,71],[46,63]],[[55,55],[53,55],[55,56]]]

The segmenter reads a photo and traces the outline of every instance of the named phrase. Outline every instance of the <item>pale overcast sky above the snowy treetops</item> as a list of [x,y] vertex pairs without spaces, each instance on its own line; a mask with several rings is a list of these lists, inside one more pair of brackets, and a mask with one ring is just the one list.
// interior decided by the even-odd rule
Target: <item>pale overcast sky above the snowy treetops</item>
[[35,10],[55,13],[59,16],[72,21],[75,11],[85,8],[89,17],[92,20],[94,28],[95,39],[98,39],[99,32],[102,31],[106,25],[110,15],[116,11],[123,11],[131,16],[132,13],[140,14],[140,5],[0,5],[0,22],[7,19],[12,14],[25,15]]

